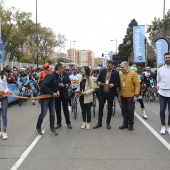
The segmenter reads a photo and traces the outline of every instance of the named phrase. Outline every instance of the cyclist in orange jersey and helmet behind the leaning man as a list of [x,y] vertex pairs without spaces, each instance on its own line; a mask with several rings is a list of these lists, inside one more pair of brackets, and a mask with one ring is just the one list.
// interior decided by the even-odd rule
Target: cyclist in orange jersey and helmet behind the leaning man
[[44,69],[44,70],[40,72],[40,75],[39,75],[39,78],[38,78],[38,82],[37,82],[37,85],[40,85],[40,86],[41,86],[42,81],[44,80],[45,76],[46,76],[48,73],[50,73],[50,72],[53,71],[53,69],[50,68],[50,66],[49,66],[48,63],[45,63],[45,64],[43,65],[43,69]]

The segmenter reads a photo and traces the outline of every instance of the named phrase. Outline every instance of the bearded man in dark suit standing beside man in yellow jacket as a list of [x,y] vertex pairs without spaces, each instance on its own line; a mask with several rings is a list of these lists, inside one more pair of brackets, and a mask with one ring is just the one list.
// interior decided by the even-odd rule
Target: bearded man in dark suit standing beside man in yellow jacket
[[113,70],[113,62],[111,60],[107,61],[107,69],[101,70],[97,81],[100,86],[99,114],[98,123],[93,127],[93,129],[102,127],[103,108],[106,100],[108,103],[106,127],[107,129],[111,129],[110,121],[113,113],[113,98],[117,96],[117,87],[120,85],[119,72]]

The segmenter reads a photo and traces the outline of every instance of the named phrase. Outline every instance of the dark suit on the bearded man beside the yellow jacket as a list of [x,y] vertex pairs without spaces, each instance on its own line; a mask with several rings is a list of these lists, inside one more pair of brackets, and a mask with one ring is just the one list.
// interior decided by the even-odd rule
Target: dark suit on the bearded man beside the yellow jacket
[[[104,69],[100,72],[99,77],[97,79],[98,82],[105,83],[106,81],[106,74],[107,69]],[[98,123],[102,124],[102,118],[103,118],[103,108],[104,104],[107,100],[108,103],[108,115],[106,123],[110,123],[112,112],[113,112],[113,98],[117,96],[117,87],[120,85],[120,79],[119,79],[119,72],[112,71],[110,76],[109,84],[113,84],[113,88],[109,88],[109,92],[104,92],[104,86],[100,86],[99,89],[99,117],[98,117]]]

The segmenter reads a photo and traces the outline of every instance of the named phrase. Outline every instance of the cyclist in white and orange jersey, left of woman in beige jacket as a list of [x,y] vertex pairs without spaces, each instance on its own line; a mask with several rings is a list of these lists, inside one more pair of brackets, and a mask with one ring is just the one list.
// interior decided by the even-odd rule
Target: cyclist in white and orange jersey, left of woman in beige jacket
[[71,111],[71,99],[75,94],[75,90],[77,89],[78,85],[79,85],[79,80],[81,78],[81,75],[78,74],[77,69],[74,68],[73,69],[73,73],[69,76],[69,79],[71,81],[71,91],[70,91],[70,96],[69,96],[69,111]]

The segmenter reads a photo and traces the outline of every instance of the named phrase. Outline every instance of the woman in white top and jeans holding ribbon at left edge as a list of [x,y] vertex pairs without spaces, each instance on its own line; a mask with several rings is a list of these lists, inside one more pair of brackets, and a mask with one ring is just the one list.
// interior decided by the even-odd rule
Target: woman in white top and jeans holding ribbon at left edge
[[[9,93],[8,85],[7,85],[7,78],[3,74],[3,72],[0,71],[0,91],[4,91]],[[0,136],[2,136],[2,139],[5,140],[8,138],[7,136],[7,108],[8,108],[8,97],[7,96],[0,96],[0,102],[1,102],[1,114],[2,114],[2,122],[3,122],[3,131],[1,131],[1,121],[0,121]],[[0,114],[0,116],[1,116]],[[0,119],[1,120],[1,119]]]

